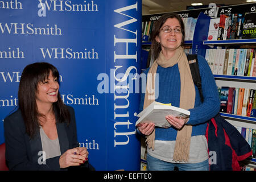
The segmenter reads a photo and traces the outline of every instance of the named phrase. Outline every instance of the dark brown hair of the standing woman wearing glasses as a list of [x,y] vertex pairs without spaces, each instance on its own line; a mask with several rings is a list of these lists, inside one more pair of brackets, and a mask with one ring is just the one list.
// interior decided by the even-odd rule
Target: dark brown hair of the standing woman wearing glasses
[[151,43],[151,57],[152,59],[156,59],[159,56],[159,53],[161,51],[161,45],[156,42],[155,38],[156,36],[159,35],[160,29],[162,28],[163,24],[166,22],[168,18],[176,18],[181,27],[181,32],[182,32],[182,41],[181,41],[181,46],[184,46],[184,38],[185,38],[185,31],[184,31],[184,23],[183,20],[180,18],[179,15],[175,13],[167,13],[162,15],[156,22],[155,22],[155,28],[154,31],[152,32],[152,43]]

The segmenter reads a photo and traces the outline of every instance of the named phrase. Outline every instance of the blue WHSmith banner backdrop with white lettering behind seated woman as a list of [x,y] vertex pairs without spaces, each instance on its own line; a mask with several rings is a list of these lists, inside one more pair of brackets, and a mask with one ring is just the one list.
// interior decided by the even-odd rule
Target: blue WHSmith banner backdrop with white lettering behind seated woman
[[60,72],[75,109],[78,140],[96,170],[139,170],[135,134],[141,63],[141,1],[0,1],[0,144],[3,119],[18,107],[27,64]]

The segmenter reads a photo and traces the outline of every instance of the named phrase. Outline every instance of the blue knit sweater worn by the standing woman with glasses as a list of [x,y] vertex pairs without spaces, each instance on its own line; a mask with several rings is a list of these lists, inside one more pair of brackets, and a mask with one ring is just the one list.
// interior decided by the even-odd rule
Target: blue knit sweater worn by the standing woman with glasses
[[[201,75],[201,84],[204,96],[203,104],[200,101],[199,90],[196,89],[195,107],[189,109],[190,118],[187,125],[192,125],[192,136],[205,135],[207,121],[213,118],[220,110],[220,99],[218,97],[218,91],[216,82],[212,75],[212,71],[204,59],[204,57],[198,55],[198,63]],[[148,73],[148,69],[144,72]],[[156,73],[159,73],[159,97],[155,100],[162,103],[171,103],[172,106],[179,107],[180,105],[180,73],[178,65],[173,67],[163,68],[158,66]],[[189,90],[187,90],[189,92]],[[141,93],[141,102],[139,110],[143,110],[144,93]],[[177,129],[170,127],[163,129],[156,127],[155,129],[156,140],[176,140]]]

